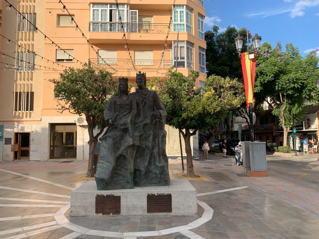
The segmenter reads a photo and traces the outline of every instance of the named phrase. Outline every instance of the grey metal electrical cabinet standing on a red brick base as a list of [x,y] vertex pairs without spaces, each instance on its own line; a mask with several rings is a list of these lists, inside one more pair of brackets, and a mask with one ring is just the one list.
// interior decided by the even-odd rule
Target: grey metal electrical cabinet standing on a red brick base
[[249,142],[250,171],[267,171],[266,142]]

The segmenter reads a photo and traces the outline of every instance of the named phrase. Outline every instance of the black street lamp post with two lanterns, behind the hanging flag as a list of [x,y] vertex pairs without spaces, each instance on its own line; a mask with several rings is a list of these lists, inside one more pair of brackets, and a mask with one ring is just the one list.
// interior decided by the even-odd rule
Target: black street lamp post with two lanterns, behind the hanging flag
[[[249,52],[249,33],[247,32],[247,52]],[[253,41],[254,45],[254,51],[258,51],[260,48],[260,41],[261,37],[255,34],[255,36],[251,39]],[[244,37],[241,35],[238,35],[235,38],[235,44],[236,44],[236,49],[240,55],[242,45],[243,45]],[[255,57],[255,53],[254,53]],[[249,57],[249,59],[251,59]],[[254,142],[254,125],[253,125],[253,103],[249,103],[249,122],[250,122],[250,139],[252,142]]]

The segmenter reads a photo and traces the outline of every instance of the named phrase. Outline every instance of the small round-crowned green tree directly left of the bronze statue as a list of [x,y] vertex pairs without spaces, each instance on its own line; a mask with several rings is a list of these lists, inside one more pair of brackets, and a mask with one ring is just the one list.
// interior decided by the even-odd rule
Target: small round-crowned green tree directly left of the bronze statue
[[[112,79],[112,73],[105,69],[94,69],[85,65],[83,68],[68,68],[60,74],[60,79],[54,79],[56,84],[54,93],[64,95],[58,100],[61,113],[65,110],[85,115],[87,130],[89,134],[89,162],[86,177],[94,177],[94,149],[98,137],[102,134],[106,123],[104,120],[104,109],[110,96],[118,89],[118,83]],[[93,130],[99,132],[94,135]]]

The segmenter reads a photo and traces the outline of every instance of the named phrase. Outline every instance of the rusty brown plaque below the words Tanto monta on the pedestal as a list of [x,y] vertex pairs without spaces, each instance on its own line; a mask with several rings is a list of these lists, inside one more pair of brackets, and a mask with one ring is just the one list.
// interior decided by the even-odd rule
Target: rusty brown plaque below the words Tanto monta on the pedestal
[[95,197],[95,213],[102,215],[120,214],[121,213],[121,196],[96,195]]

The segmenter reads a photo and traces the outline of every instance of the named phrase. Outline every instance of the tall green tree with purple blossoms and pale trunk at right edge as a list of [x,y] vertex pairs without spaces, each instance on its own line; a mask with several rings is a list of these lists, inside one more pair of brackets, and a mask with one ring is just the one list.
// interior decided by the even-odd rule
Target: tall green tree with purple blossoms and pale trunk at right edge
[[263,91],[270,98],[272,113],[278,116],[284,129],[284,146],[289,129],[300,122],[305,106],[319,101],[315,54],[313,51],[302,57],[292,43],[286,44],[283,52],[280,41],[273,49],[268,42],[263,43],[258,54],[255,91]]

